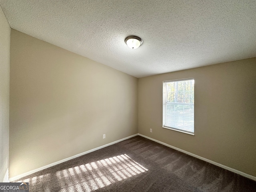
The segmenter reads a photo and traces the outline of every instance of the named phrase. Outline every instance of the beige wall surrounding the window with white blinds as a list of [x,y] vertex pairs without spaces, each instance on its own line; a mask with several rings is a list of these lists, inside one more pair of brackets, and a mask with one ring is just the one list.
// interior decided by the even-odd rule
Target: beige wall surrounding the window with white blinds
[[[195,136],[162,128],[162,82],[193,77]],[[138,103],[140,134],[256,176],[256,58],[140,78]]]

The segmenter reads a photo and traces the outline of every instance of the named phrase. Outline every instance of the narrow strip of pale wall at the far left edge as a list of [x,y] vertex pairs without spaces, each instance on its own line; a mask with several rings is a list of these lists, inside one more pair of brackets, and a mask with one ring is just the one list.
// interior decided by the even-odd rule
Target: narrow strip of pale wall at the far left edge
[[0,182],[9,161],[10,26],[0,7]]

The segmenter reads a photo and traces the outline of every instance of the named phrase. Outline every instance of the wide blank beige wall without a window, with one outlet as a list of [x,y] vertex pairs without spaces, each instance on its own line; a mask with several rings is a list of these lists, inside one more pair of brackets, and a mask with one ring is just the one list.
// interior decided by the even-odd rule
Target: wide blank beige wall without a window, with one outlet
[[10,177],[138,133],[137,78],[16,30],[10,54]]

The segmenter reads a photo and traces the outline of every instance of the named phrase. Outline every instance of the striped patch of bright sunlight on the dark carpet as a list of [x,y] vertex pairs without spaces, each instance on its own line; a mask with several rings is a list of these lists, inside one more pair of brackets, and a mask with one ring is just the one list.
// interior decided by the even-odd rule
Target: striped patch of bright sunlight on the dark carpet
[[[56,188],[58,187],[61,192],[91,192],[146,171],[148,169],[134,161],[130,156],[122,154],[60,170],[55,174],[35,176],[22,182],[29,182],[34,185],[42,179],[47,183],[48,180],[57,177]],[[46,190],[50,191],[47,187]]]

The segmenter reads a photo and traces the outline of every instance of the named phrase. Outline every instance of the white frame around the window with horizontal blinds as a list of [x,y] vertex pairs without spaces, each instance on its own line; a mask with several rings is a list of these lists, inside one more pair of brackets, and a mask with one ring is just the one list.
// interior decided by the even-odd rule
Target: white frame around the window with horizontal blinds
[[[190,131],[187,131],[187,130],[182,130],[182,129],[178,129],[178,128],[173,128],[173,127],[169,127],[169,126],[164,126],[164,120],[165,120],[165,110],[164,110],[164,98],[165,98],[165,94],[164,94],[164,83],[167,83],[167,82],[180,82],[180,81],[186,81],[186,80],[194,80],[194,78],[184,78],[184,79],[175,79],[175,80],[166,80],[166,81],[163,81],[163,87],[162,87],[162,91],[163,91],[163,100],[162,100],[162,128],[165,128],[165,129],[169,129],[169,130],[174,130],[174,131],[177,131],[177,132],[182,132],[182,133],[185,133],[185,134],[189,134],[189,135],[195,135],[195,128],[194,128],[194,131],[193,132],[190,132]],[[195,84],[194,84],[195,86]],[[195,92],[195,91],[194,91]],[[194,105],[193,105],[194,106]],[[194,117],[193,117],[194,118]]]

